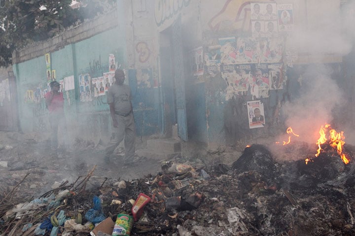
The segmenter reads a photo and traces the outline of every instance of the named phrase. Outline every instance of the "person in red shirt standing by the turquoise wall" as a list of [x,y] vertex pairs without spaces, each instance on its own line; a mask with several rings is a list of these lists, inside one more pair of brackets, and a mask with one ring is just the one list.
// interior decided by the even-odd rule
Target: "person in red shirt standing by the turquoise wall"
[[49,123],[51,128],[51,148],[58,148],[58,126],[64,120],[64,98],[59,91],[60,84],[53,81],[49,84],[51,91],[44,95],[46,106],[49,111]]

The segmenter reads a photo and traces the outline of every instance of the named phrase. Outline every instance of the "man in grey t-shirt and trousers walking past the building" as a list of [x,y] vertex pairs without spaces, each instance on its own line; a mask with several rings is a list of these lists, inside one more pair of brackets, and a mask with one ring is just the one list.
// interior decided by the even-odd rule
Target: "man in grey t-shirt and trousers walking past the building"
[[105,149],[105,161],[109,162],[110,154],[113,153],[114,149],[124,139],[125,155],[123,164],[129,165],[133,163],[133,158],[136,153],[136,130],[131,102],[131,89],[129,86],[123,84],[125,80],[123,70],[117,69],[114,78],[115,83],[112,84],[107,91],[107,103],[109,105],[113,125],[113,138]]

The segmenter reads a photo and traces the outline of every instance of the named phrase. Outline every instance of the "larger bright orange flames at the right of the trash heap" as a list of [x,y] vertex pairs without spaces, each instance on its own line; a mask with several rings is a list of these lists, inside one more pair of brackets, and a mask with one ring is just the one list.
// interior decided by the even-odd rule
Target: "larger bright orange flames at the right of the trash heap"
[[[342,159],[342,161],[345,164],[349,163],[349,159],[346,158],[345,154],[343,153],[343,146],[345,144],[344,142],[344,131],[341,131],[340,133],[338,133],[335,129],[332,129],[330,124],[325,124],[324,127],[321,126],[320,127],[320,138],[317,141],[317,145],[318,145],[318,149],[317,149],[317,153],[315,154],[315,156],[319,156],[320,152],[323,150],[321,148],[322,144],[328,143],[332,148],[336,148],[337,152],[340,156],[340,158]],[[308,163],[308,161],[310,161],[310,159],[306,159],[306,164]]]

